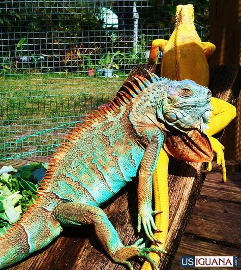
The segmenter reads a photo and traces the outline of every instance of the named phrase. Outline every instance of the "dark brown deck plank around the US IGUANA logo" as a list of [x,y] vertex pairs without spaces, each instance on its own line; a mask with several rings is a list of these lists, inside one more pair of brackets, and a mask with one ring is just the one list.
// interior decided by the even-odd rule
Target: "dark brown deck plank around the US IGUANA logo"
[[[213,243],[207,243],[187,236],[182,238],[176,256],[172,262],[170,270],[184,269],[180,267],[180,256],[238,256],[239,265],[241,263],[241,250],[221,246]],[[198,267],[190,267],[188,269],[198,269]],[[201,267],[199,269],[210,269]],[[230,269],[230,267],[212,267],[211,269]]]

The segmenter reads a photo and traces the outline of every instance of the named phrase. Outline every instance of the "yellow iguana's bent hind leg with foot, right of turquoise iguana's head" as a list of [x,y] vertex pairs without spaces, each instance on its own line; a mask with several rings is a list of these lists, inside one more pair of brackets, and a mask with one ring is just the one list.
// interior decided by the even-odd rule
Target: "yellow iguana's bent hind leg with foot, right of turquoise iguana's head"
[[[223,182],[226,182],[226,168],[225,159],[223,154],[224,146],[214,137],[210,137],[221,130],[223,130],[236,116],[236,108],[226,101],[221,99],[212,98],[211,105],[213,107],[212,116],[209,119],[208,129],[206,130],[207,136],[209,136],[210,143],[214,152],[217,154],[217,164],[222,165],[223,170]],[[209,162],[207,170],[212,169],[212,163]]]

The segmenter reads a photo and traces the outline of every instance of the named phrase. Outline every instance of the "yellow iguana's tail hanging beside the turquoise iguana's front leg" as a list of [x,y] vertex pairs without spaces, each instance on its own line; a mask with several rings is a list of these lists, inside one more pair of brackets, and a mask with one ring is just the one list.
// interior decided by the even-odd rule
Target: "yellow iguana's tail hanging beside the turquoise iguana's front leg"
[[[162,244],[152,245],[152,247],[157,247],[158,245],[161,249],[164,249],[169,225],[169,198],[167,184],[168,162],[168,154],[164,149],[161,149],[157,166],[153,174],[153,188],[155,196],[155,211],[162,212],[160,215],[156,215],[155,217],[155,224],[162,230],[162,232],[155,232],[154,235]],[[160,263],[160,256],[157,253],[149,253],[149,255],[157,262],[157,264]],[[152,266],[148,261],[145,261],[141,270],[147,269],[152,269]]]

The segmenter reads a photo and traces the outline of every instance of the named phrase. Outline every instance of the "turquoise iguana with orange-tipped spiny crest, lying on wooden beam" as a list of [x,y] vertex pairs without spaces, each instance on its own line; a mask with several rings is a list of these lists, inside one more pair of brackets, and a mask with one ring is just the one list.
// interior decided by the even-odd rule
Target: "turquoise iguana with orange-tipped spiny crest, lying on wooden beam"
[[[116,97],[88,117],[88,122],[67,136],[49,164],[39,198],[21,220],[0,238],[0,268],[20,261],[48,245],[65,225],[92,224],[106,253],[117,263],[132,265],[129,258],[144,257],[155,269],[158,265],[140,239],[124,246],[100,208],[138,175],[138,227],[156,241],[152,210],[152,175],[167,138],[181,133],[189,141],[196,134],[205,149],[194,149],[201,160],[212,159],[207,137],[202,134],[210,115],[210,91],[191,80],[171,81],[149,73],[152,79],[136,76],[137,93]],[[190,129],[192,129],[190,131]],[[174,132],[174,133],[173,133]],[[166,143],[165,143],[166,137]],[[191,142],[192,143],[192,142]],[[195,144],[195,143],[194,143]],[[173,154],[175,156],[175,153]]]

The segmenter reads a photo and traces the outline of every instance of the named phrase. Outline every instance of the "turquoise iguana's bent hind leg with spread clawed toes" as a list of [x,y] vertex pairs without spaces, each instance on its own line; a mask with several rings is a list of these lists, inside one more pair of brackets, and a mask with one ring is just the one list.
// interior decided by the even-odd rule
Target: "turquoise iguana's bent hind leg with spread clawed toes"
[[165,251],[158,248],[145,248],[145,245],[141,244],[143,239],[139,239],[131,246],[124,246],[101,208],[83,203],[66,202],[56,207],[54,215],[63,225],[94,225],[102,247],[115,262],[126,264],[133,270],[131,263],[127,260],[139,256],[148,260],[156,270],[159,269],[148,253],[165,253]]

